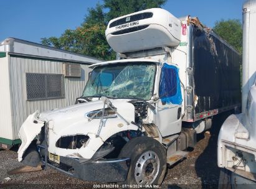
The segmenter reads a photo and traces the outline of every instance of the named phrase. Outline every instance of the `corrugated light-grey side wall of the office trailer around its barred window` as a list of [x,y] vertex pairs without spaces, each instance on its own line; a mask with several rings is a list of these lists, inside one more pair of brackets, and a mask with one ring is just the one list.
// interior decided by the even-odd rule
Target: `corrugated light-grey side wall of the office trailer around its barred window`
[[[67,63],[67,62],[65,62]],[[12,94],[12,114],[13,122],[13,134],[12,139],[18,138],[18,132],[22,125],[22,123],[26,120],[29,114],[34,113],[35,111],[46,111],[55,108],[63,108],[65,106],[70,106],[75,103],[75,99],[78,98],[83,91],[85,83],[88,79],[88,73],[90,68],[88,65],[80,65],[81,66],[81,76],[80,77],[65,77],[63,71],[64,62],[59,62],[55,60],[44,60],[42,58],[28,58],[28,57],[19,57],[12,55],[10,61],[11,68],[11,94]],[[27,94],[27,88],[31,88],[37,93],[35,95],[40,96],[40,91],[45,91],[44,85],[33,85],[33,83],[29,83],[27,81],[31,74],[35,73],[35,79],[44,80],[44,75],[49,75],[53,77],[51,79],[55,79],[54,77],[60,76],[60,80],[62,80],[63,85],[59,86],[58,81],[51,84],[51,86],[47,85],[47,88],[52,87],[52,95],[56,95],[54,93],[58,93],[62,90],[62,97],[57,98],[42,98],[42,99],[28,99],[29,96]],[[37,73],[39,77],[37,77]],[[27,78],[26,78],[27,77]],[[33,79],[31,79],[32,81]],[[47,82],[47,81],[46,81]],[[44,82],[42,82],[44,84]],[[33,86],[31,86],[33,85]],[[60,89],[62,88],[62,89]],[[33,96],[31,96],[33,98]]]

